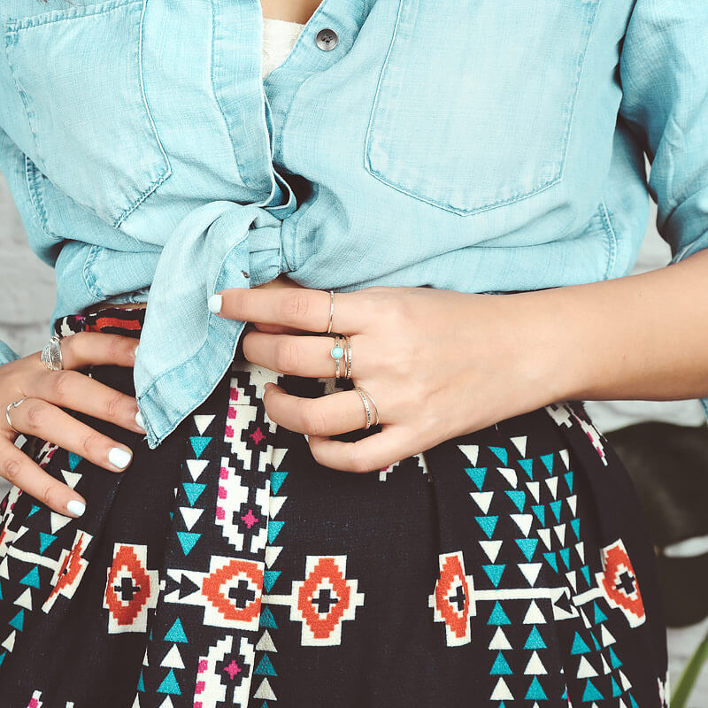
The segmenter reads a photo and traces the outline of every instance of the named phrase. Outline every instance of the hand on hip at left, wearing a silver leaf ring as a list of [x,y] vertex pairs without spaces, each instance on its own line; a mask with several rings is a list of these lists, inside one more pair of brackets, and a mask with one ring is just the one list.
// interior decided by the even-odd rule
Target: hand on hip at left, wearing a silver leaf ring
[[[77,371],[87,366],[134,366],[137,340],[119,335],[81,332],[61,340],[63,371],[49,371],[40,352],[0,366],[0,476],[65,516],[81,516],[86,500],[27,457],[13,444],[18,433],[33,435],[74,452],[97,466],[122,472],[133,453],[69,413],[86,413],[144,434],[136,422],[135,398]],[[10,409],[12,427],[4,412]]]

